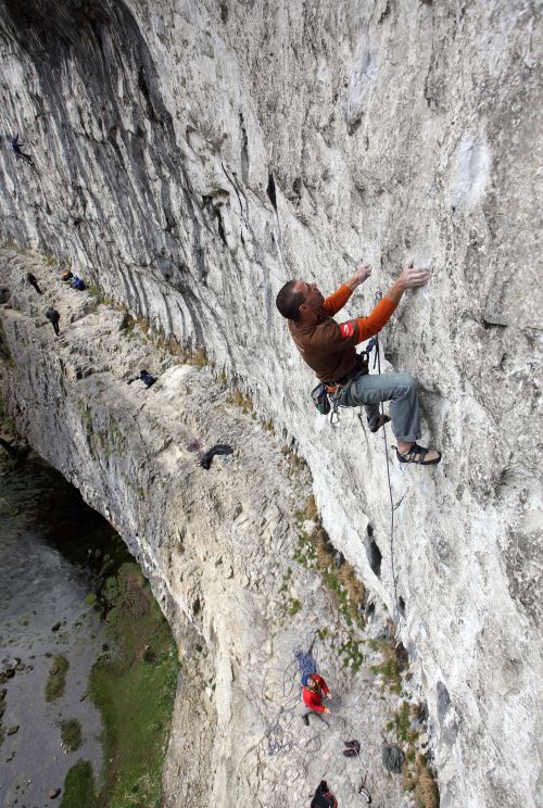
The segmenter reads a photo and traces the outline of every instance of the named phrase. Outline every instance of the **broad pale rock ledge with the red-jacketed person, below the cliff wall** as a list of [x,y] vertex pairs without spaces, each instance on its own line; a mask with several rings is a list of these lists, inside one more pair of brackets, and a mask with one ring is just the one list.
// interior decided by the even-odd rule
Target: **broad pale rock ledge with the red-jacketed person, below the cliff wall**
[[[391,652],[386,608],[363,590],[349,599],[349,586],[338,585],[342,556],[327,567],[312,543],[318,515],[305,465],[211,366],[179,362],[144,324],[70,289],[40,260],[4,249],[1,264],[8,407],[125,538],[178,636],[167,805],[190,795],[202,808],[233,798],[294,807],[326,778],[349,808],[362,801],[363,775],[374,805],[409,805],[402,777],[383,769],[381,746],[397,742],[400,707],[420,695],[407,669],[396,682],[403,661]],[[41,296],[26,285],[28,270]],[[43,316],[51,304],[60,338]],[[159,376],[149,391],[126,383],[142,367]],[[206,471],[199,452],[217,442],[233,454]],[[312,643],[338,698],[328,725],[306,728],[293,653]],[[392,668],[371,670],[387,659]],[[418,750],[424,720],[409,712],[408,724]],[[353,737],[361,757],[345,758],[342,741]]]

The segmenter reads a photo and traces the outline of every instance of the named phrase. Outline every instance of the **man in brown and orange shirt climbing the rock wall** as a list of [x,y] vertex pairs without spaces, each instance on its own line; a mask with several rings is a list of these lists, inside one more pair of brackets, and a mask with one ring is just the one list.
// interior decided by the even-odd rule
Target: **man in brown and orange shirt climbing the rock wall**
[[327,384],[342,407],[363,405],[371,432],[390,418],[380,413],[380,403],[390,401],[392,431],[397,441],[400,463],[430,466],[441,460],[441,452],[420,446],[420,408],[415,381],[408,374],[367,373],[355,345],[378,333],[389,321],[404,292],[428,283],[428,269],[408,262],[397,280],[367,317],[338,324],[333,316],[343,308],[353,291],[371,275],[369,264],[361,266],[329,298],[316,283],[289,280],[279,290],[276,305],[288,320],[289,331],[304,362]]

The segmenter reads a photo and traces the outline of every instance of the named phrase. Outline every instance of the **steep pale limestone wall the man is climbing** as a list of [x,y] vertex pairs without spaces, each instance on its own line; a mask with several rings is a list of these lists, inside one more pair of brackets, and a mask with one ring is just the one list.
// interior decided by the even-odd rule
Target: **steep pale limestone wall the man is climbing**
[[[295,439],[391,608],[394,560],[445,808],[535,792],[538,22],[520,0],[0,10],[2,130],[36,162],[2,149],[2,235],[205,345]],[[274,296],[364,260],[348,313],[367,312],[407,255],[432,281],[383,332],[383,369],[417,377],[444,460],[393,465],[391,546],[382,442],[352,412],[314,417]]]

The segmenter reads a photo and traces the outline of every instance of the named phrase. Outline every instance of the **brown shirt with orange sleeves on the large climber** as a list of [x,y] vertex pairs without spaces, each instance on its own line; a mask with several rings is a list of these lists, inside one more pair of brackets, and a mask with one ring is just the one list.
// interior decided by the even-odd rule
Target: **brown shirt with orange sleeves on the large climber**
[[303,359],[320,381],[339,381],[356,367],[355,345],[378,333],[389,321],[396,303],[383,298],[367,317],[355,317],[338,324],[333,319],[343,308],[352,291],[348,286],[327,298],[314,326],[301,327],[289,320],[289,330]]

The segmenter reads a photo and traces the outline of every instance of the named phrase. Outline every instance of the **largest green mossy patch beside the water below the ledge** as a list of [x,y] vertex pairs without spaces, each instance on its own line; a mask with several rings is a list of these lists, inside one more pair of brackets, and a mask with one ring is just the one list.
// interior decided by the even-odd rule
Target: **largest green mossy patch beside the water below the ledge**
[[102,592],[116,652],[101,657],[90,695],[102,712],[105,774],[97,808],[161,800],[178,659],[169,627],[136,564],[124,564]]

